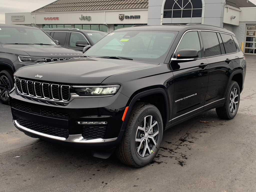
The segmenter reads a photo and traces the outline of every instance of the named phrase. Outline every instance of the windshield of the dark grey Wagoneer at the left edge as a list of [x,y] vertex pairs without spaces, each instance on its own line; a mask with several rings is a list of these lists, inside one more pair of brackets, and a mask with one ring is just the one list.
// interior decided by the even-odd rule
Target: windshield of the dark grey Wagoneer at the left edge
[[42,30],[23,27],[1,27],[0,44],[56,45],[56,43]]

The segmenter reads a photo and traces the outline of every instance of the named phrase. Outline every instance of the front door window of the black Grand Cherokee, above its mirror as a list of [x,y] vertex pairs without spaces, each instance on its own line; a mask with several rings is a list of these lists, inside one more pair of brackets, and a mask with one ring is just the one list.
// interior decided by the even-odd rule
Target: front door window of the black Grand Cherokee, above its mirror
[[180,49],[195,49],[198,51],[199,58],[202,57],[201,46],[200,46],[200,41],[199,41],[197,31],[191,31],[184,35],[184,37],[182,38],[182,40],[179,44],[177,52]]

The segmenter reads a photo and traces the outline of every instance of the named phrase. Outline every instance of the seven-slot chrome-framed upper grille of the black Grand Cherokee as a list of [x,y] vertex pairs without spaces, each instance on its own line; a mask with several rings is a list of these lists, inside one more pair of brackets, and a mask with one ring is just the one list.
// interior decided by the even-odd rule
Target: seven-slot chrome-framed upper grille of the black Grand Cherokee
[[15,79],[16,90],[23,95],[54,101],[69,101],[70,86]]

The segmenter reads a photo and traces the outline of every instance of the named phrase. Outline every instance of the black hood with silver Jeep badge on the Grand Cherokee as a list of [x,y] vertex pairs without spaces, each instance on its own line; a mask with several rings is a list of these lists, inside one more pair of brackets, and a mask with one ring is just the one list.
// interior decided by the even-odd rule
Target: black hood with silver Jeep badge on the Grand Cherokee
[[[15,76],[66,84],[100,84],[109,76],[153,67],[158,63],[130,60],[77,58],[22,67]],[[36,75],[42,78],[36,78]]]

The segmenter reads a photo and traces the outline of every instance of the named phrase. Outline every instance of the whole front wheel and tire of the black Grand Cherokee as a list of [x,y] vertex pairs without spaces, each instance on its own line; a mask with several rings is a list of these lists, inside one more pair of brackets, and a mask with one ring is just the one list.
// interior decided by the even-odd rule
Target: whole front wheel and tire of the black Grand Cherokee
[[[146,126],[144,126],[145,119]],[[151,125],[154,125],[152,129],[150,128],[151,126],[148,126],[151,119]],[[146,130],[144,127],[147,127]],[[161,145],[162,138],[163,120],[159,110],[151,104],[136,103],[129,117],[122,141],[116,149],[116,155],[126,165],[137,168],[143,167],[153,161]],[[139,152],[138,148],[140,148]]]

